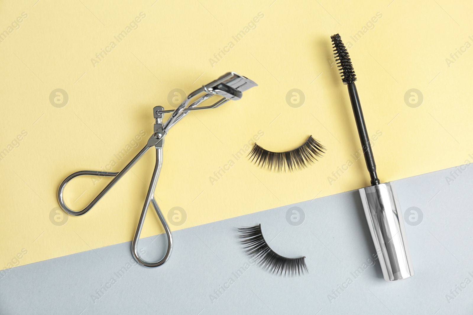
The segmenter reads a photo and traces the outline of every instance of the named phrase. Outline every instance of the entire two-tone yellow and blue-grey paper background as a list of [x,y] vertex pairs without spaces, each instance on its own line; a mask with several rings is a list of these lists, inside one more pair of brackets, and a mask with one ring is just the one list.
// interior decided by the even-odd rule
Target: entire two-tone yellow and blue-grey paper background
[[[238,314],[238,307],[261,314],[259,307],[275,297],[274,303],[284,301],[288,308],[270,305],[274,314],[369,313],[370,306],[386,314],[469,314],[473,284],[454,300],[446,295],[466,277],[473,280],[467,253],[473,177],[469,167],[457,169],[473,162],[472,10],[470,2],[443,0],[2,2],[0,269],[14,268],[1,273],[6,276],[0,279],[0,313],[116,314],[128,310],[121,303],[131,301],[126,305],[138,308],[125,314],[149,312],[148,304],[157,314],[187,313],[194,306],[195,314]],[[359,200],[352,193],[331,196],[369,185],[363,158],[357,158],[348,94],[333,60],[335,33],[347,44],[359,79],[379,177],[402,179],[403,211],[416,207],[411,210],[423,218],[407,226],[414,278],[385,283],[376,263],[363,277],[373,296],[383,294],[366,298],[353,292],[368,291],[352,289],[335,301],[347,297],[344,309],[331,308],[335,302],[327,295],[373,248],[356,212]],[[124,242],[133,237],[154,154],[145,155],[84,216],[59,210],[59,184],[77,170],[121,170],[151,135],[154,106],[173,108],[183,93],[228,71],[259,86],[240,101],[189,114],[166,136],[155,197],[172,230],[184,229],[175,233],[175,253],[157,269],[133,266],[134,277],[117,283],[122,293],[110,291],[100,299],[122,309],[96,308],[90,296],[109,282],[105,272],[112,274],[131,258]],[[308,169],[278,174],[245,157],[255,139],[268,150],[284,151],[309,135],[327,153]],[[444,171],[407,179],[438,170]],[[109,180],[74,179],[65,191],[67,203],[83,208]],[[325,196],[330,197],[319,199]],[[301,202],[310,204],[298,205],[305,221],[291,225],[286,211]],[[270,220],[257,213],[267,209],[282,214]],[[357,219],[350,221],[350,215]],[[209,307],[211,292],[245,263],[235,228],[264,220],[272,237],[288,230],[271,243],[281,254],[313,253],[310,276],[275,280],[251,267],[248,281],[261,281],[236,281],[232,288],[241,292],[213,301],[221,309]],[[216,225],[203,225],[211,222]],[[142,236],[152,240],[161,232],[150,212]],[[199,237],[206,244],[201,250],[192,246]],[[154,244],[149,252],[164,243]],[[424,246],[429,252],[421,259]],[[113,255],[99,252],[107,250]],[[215,263],[221,266],[210,268]],[[429,276],[422,278],[422,270]],[[148,299],[138,288],[156,290],[159,298]],[[254,295],[246,295],[248,288]],[[188,303],[177,302],[179,292]],[[52,303],[55,297],[60,302]]]

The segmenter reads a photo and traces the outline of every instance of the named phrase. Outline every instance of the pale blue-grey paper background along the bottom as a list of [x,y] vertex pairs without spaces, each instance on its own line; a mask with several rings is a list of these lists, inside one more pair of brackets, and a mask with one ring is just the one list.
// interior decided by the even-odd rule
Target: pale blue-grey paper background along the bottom
[[[0,279],[0,314],[472,314],[473,167],[462,168],[449,184],[457,168],[395,182],[417,224],[405,224],[415,271],[407,280],[384,281],[370,260],[375,249],[350,191],[176,231],[171,258],[154,269],[134,262],[130,242],[12,268]],[[305,255],[309,273],[284,278],[249,265],[236,228],[258,223],[277,253]],[[150,260],[165,244],[160,235],[140,247]],[[99,296],[102,286],[110,289]]]

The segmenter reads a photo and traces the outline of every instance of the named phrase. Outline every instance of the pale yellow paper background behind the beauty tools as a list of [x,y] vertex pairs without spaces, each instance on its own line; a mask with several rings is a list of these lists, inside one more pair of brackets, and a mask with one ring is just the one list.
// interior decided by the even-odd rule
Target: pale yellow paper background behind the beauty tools
[[[22,12],[27,17],[0,43],[0,150],[23,130],[27,136],[0,161],[1,269],[131,240],[154,153],[89,213],[62,226],[50,221],[58,185],[74,171],[116,161],[114,153],[144,130],[139,147],[113,170],[123,168],[152,131],[153,106],[170,108],[171,90],[189,93],[228,71],[259,86],[240,101],[189,114],[166,136],[155,196],[166,217],[175,206],[187,213],[172,230],[368,186],[362,159],[331,184],[327,179],[360,147],[331,55],[335,33],[353,44],[368,132],[382,133],[373,144],[382,181],[471,162],[473,48],[450,65],[446,58],[473,43],[472,6],[443,0],[3,2],[0,31]],[[140,12],[146,17],[138,28],[94,67],[96,53]],[[264,17],[256,28],[235,43],[232,36],[259,12]],[[377,12],[382,17],[374,27],[351,40]],[[209,59],[230,41],[235,46],[212,66]],[[49,101],[56,88],[69,95],[62,108]],[[293,88],[305,94],[299,108],[286,102]],[[404,102],[411,88],[423,94],[418,108]],[[232,154],[259,130],[258,144],[268,150],[288,150],[313,135],[328,152],[314,166],[287,174],[236,161]],[[210,176],[230,159],[235,165],[212,185]],[[90,178],[76,179],[66,201],[78,210],[109,180],[93,186]],[[149,213],[142,237],[162,231]],[[28,253],[17,263],[23,248]]]

